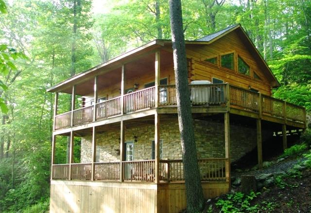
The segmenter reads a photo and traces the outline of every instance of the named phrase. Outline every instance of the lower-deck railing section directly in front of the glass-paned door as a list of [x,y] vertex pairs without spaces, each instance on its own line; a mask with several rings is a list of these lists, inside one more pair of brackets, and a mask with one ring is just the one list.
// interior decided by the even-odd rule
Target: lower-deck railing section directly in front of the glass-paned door
[[124,181],[154,181],[155,160],[122,161]]

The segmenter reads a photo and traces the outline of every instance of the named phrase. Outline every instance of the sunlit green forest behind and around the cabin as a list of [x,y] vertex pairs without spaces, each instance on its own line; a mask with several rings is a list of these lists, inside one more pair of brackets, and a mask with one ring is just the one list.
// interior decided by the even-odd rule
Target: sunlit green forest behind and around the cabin
[[[46,89],[148,41],[170,39],[169,5],[167,0],[114,0],[101,7],[98,0],[4,2],[0,212],[33,205],[48,208],[54,97]],[[182,0],[182,4],[187,40],[241,23],[281,84],[274,97],[310,112],[310,0]],[[59,111],[69,110],[69,103],[69,97],[61,96]],[[65,139],[57,143],[58,163],[66,161],[66,143]]]

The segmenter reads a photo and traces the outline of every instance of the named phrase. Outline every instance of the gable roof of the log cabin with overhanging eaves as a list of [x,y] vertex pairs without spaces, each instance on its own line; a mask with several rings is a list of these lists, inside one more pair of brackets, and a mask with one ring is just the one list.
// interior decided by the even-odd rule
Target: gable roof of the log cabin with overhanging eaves
[[[252,40],[249,38],[249,36],[246,34],[246,32],[244,31],[244,29],[242,28],[241,24],[235,24],[232,26],[229,26],[223,30],[220,30],[216,33],[204,36],[202,38],[199,38],[197,40],[185,40],[185,44],[193,44],[193,45],[205,45],[205,44],[210,44],[220,38],[222,38],[223,36],[229,34],[232,31],[238,30],[240,32],[242,32],[240,35],[242,36],[242,40],[246,41],[248,43],[248,47],[251,48],[251,51],[253,53],[255,53],[255,56],[257,56],[257,58],[259,59],[259,63],[262,64],[262,66],[264,68],[266,68],[265,73],[268,75],[268,78],[270,79],[270,83],[272,85],[272,87],[279,87],[280,84],[277,81],[276,77],[274,76],[273,72],[270,70],[269,66],[267,65],[267,63],[265,62],[265,60],[262,58],[261,54],[259,53],[259,51],[257,50],[257,48],[255,47],[254,43],[252,42]],[[244,39],[243,39],[244,38]],[[99,69],[104,68],[108,65],[111,65],[113,63],[117,63],[117,62],[121,62],[122,60],[124,60],[125,58],[135,55],[141,51],[147,51],[147,49],[154,49],[156,47],[161,47],[164,46],[164,44],[171,44],[172,40],[168,40],[168,39],[155,39],[153,41],[150,41],[138,48],[135,48],[134,50],[128,51],[126,53],[123,53],[115,58],[112,58],[102,64],[99,64],[89,70],[86,70],[84,72],[81,72],[79,74],[76,74],[68,79],[66,79],[63,82],[60,82],[57,85],[52,86],[51,88],[47,89],[48,92],[56,92],[56,91],[60,91],[61,89],[65,88],[66,85],[68,85],[69,83],[79,83],[82,82],[84,80],[86,80],[87,78],[90,78],[90,76],[95,76],[100,74],[101,72],[99,71]],[[84,78],[84,80],[82,79]]]

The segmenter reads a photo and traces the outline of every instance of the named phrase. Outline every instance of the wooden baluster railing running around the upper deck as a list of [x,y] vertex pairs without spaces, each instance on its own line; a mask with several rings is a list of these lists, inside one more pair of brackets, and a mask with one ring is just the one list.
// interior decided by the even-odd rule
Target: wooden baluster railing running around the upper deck
[[[306,123],[305,108],[286,103],[282,100],[260,95],[247,89],[227,84],[190,85],[190,101],[192,106],[226,106],[253,113],[262,113],[280,119],[288,119],[294,122]],[[228,91],[229,90],[229,91]],[[229,93],[229,94],[228,94]],[[176,106],[175,85],[158,86],[159,106]],[[260,98],[261,96],[261,98]],[[123,98],[123,112],[121,110],[121,98]],[[230,99],[230,100],[228,100]],[[228,106],[228,105],[227,105]],[[261,106],[261,108],[259,108]],[[55,116],[55,130],[68,128],[71,125],[87,124],[113,116],[137,112],[143,109],[155,107],[155,87],[138,90],[116,97],[95,105],[73,110]],[[227,110],[223,108],[223,110]],[[70,124],[72,118],[72,124]]]

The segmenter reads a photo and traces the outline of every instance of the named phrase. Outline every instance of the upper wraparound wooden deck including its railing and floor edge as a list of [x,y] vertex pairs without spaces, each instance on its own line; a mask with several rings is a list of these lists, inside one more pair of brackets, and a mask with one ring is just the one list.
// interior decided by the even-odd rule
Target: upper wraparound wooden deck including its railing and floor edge
[[[289,124],[298,128],[305,128],[306,126],[306,110],[304,107],[251,90],[228,84],[210,84],[190,85],[190,93],[193,113],[230,112],[279,124]],[[138,117],[149,115],[150,113],[146,110],[155,109],[157,95],[157,109],[160,109],[158,113],[176,113],[175,86],[161,85],[158,86],[157,94],[155,87],[151,87],[56,115],[54,131],[82,125],[91,127],[87,124],[104,120],[120,122],[121,120],[133,119],[135,113],[139,114],[140,112],[144,113],[140,113]],[[153,114],[153,112],[151,113]],[[118,119],[118,117],[122,118]]]

